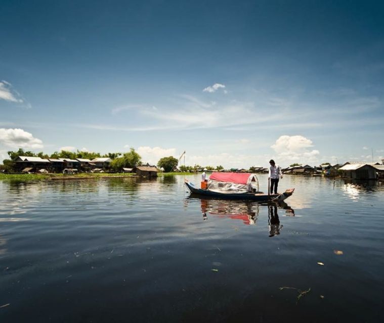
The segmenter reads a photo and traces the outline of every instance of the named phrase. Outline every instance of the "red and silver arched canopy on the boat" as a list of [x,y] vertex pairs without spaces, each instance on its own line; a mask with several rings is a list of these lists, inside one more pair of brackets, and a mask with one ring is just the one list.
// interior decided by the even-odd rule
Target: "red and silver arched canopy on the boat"
[[251,173],[214,173],[209,177],[207,189],[220,193],[247,193],[259,191],[259,181]]

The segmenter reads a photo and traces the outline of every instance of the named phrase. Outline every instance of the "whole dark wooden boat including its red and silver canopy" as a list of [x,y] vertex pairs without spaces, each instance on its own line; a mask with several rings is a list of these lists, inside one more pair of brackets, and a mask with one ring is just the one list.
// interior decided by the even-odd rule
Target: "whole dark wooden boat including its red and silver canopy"
[[199,188],[188,179],[184,180],[191,194],[224,199],[253,201],[282,201],[293,194],[294,188],[284,193],[266,194],[259,191],[259,180],[251,173],[214,173],[209,177],[206,188]]

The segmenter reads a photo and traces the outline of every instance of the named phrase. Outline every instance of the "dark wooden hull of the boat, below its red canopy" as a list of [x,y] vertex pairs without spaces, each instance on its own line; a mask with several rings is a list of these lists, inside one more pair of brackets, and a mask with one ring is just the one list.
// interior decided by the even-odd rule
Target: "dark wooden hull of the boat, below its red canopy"
[[257,193],[230,193],[230,192],[217,192],[217,191],[211,191],[209,189],[201,189],[196,187],[194,184],[192,184],[187,179],[184,180],[184,184],[187,186],[189,191],[192,194],[197,195],[203,195],[203,196],[210,196],[210,197],[218,197],[223,199],[237,199],[237,200],[252,200],[252,201],[259,201],[259,202],[266,202],[266,201],[282,201],[292,195],[294,188],[290,190],[286,190],[284,193],[278,193],[278,194],[266,194],[264,192],[257,192]]

